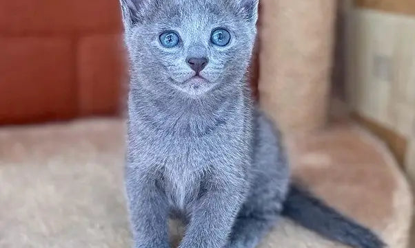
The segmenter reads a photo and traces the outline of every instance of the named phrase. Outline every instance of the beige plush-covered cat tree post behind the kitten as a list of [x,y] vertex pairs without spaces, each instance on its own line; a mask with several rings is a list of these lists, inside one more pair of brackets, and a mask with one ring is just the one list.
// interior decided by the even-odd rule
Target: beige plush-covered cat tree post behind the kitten
[[334,0],[262,0],[261,106],[285,133],[312,131],[327,118]]

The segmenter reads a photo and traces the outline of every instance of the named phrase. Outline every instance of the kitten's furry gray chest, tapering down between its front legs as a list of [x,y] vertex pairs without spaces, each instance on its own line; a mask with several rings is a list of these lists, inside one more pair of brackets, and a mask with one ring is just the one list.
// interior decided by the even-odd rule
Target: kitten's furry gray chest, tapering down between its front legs
[[[179,212],[187,212],[203,194],[210,173],[220,166],[242,165],[249,154],[245,122],[205,124],[186,120],[156,125],[145,120],[129,126],[130,161],[141,171],[159,172],[159,185],[170,207]],[[189,132],[183,132],[188,127]]]

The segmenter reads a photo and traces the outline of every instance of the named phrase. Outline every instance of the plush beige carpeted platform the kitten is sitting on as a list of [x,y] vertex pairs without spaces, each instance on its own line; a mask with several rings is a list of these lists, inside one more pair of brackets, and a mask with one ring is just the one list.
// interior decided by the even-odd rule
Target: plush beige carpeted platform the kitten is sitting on
[[[0,248],[130,247],[124,137],[119,120],[1,128]],[[377,140],[346,125],[289,144],[296,177],[389,247],[406,247],[411,194]],[[342,246],[281,220],[261,247]]]

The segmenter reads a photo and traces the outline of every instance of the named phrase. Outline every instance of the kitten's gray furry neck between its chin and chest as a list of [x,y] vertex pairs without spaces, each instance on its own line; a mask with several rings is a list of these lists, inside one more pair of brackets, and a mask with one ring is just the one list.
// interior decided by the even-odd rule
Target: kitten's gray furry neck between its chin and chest
[[194,137],[232,122],[243,113],[245,98],[243,89],[196,100],[130,89],[128,109],[130,122],[139,122],[154,131]]

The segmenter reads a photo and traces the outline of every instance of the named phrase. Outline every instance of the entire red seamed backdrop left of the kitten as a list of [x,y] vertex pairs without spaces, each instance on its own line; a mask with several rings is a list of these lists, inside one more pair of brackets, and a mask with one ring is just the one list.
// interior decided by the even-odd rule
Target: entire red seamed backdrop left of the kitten
[[119,111],[119,1],[0,0],[0,124]]

